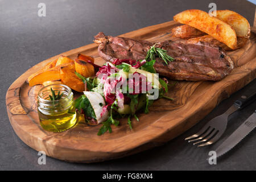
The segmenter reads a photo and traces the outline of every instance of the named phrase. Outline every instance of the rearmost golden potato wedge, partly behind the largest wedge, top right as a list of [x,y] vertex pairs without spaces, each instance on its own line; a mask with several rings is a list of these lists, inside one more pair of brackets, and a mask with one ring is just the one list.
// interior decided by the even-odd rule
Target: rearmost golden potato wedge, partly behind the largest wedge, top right
[[237,36],[249,38],[250,24],[242,15],[230,10],[217,10],[216,18],[228,23],[236,31]]

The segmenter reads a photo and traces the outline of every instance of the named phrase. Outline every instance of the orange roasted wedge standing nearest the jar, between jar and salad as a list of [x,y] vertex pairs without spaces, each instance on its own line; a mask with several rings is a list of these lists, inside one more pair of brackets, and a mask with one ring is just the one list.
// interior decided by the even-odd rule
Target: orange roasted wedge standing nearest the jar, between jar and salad
[[75,71],[68,67],[60,67],[60,79],[63,84],[77,92],[83,92],[85,90],[84,82],[76,76]]

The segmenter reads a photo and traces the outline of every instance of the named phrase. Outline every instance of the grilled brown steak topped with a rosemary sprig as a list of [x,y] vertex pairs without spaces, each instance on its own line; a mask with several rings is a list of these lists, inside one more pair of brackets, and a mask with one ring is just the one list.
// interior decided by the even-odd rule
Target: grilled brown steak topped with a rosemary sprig
[[[145,40],[96,35],[94,42],[100,44],[98,53],[106,61],[115,59],[143,60],[153,43]],[[221,80],[228,75],[234,65],[233,61],[221,48],[208,43],[183,44],[172,40],[156,43],[155,47],[165,49],[174,61],[168,65],[160,58],[156,59],[154,68],[159,75],[173,80]]]

